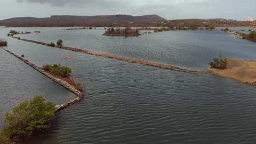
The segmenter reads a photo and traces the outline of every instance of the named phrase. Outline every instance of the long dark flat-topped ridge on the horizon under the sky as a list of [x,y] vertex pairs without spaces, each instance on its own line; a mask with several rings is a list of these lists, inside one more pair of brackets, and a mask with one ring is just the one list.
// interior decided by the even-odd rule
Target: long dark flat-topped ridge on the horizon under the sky
[[148,23],[148,22],[161,22],[166,19],[158,15],[97,15],[97,16],[75,16],[75,15],[53,15],[45,18],[37,17],[15,17],[0,21],[0,25],[22,25],[26,23]]

